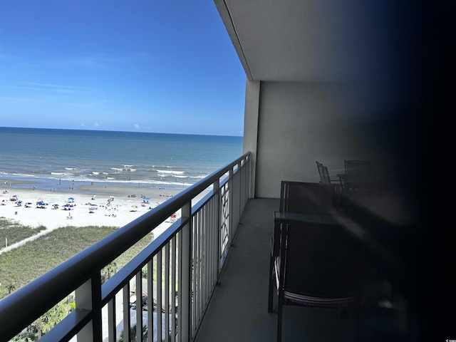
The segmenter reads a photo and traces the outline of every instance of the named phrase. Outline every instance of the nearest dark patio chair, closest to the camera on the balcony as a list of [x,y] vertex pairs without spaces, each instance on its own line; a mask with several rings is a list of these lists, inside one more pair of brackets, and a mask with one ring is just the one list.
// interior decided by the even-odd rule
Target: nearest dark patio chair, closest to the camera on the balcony
[[337,224],[282,224],[279,257],[274,263],[277,289],[277,341],[284,305],[340,309],[360,306],[363,250]]

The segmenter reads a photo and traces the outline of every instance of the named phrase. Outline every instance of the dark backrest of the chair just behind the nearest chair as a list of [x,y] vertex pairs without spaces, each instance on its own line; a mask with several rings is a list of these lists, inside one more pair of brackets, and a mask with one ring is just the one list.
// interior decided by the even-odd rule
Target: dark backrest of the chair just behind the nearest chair
[[326,214],[333,209],[331,185],[306,182],[281,182],[280,212]]

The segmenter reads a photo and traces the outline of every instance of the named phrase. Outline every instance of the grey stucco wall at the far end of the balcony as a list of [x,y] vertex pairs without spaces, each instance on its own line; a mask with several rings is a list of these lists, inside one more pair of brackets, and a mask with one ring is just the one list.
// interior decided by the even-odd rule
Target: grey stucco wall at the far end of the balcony
[[316,160],[335,179],[345,159],[380,164],[382,151],[373,145],[377,133],[383,136],[375,115],[381,103],[364,93],[347,84],[261,82],[252,91],[259,102],[255,120],[248,104],[255,95],[246,95],[244,139],[257,138],[255,197],[279,197],[281,180],[318,182]]

